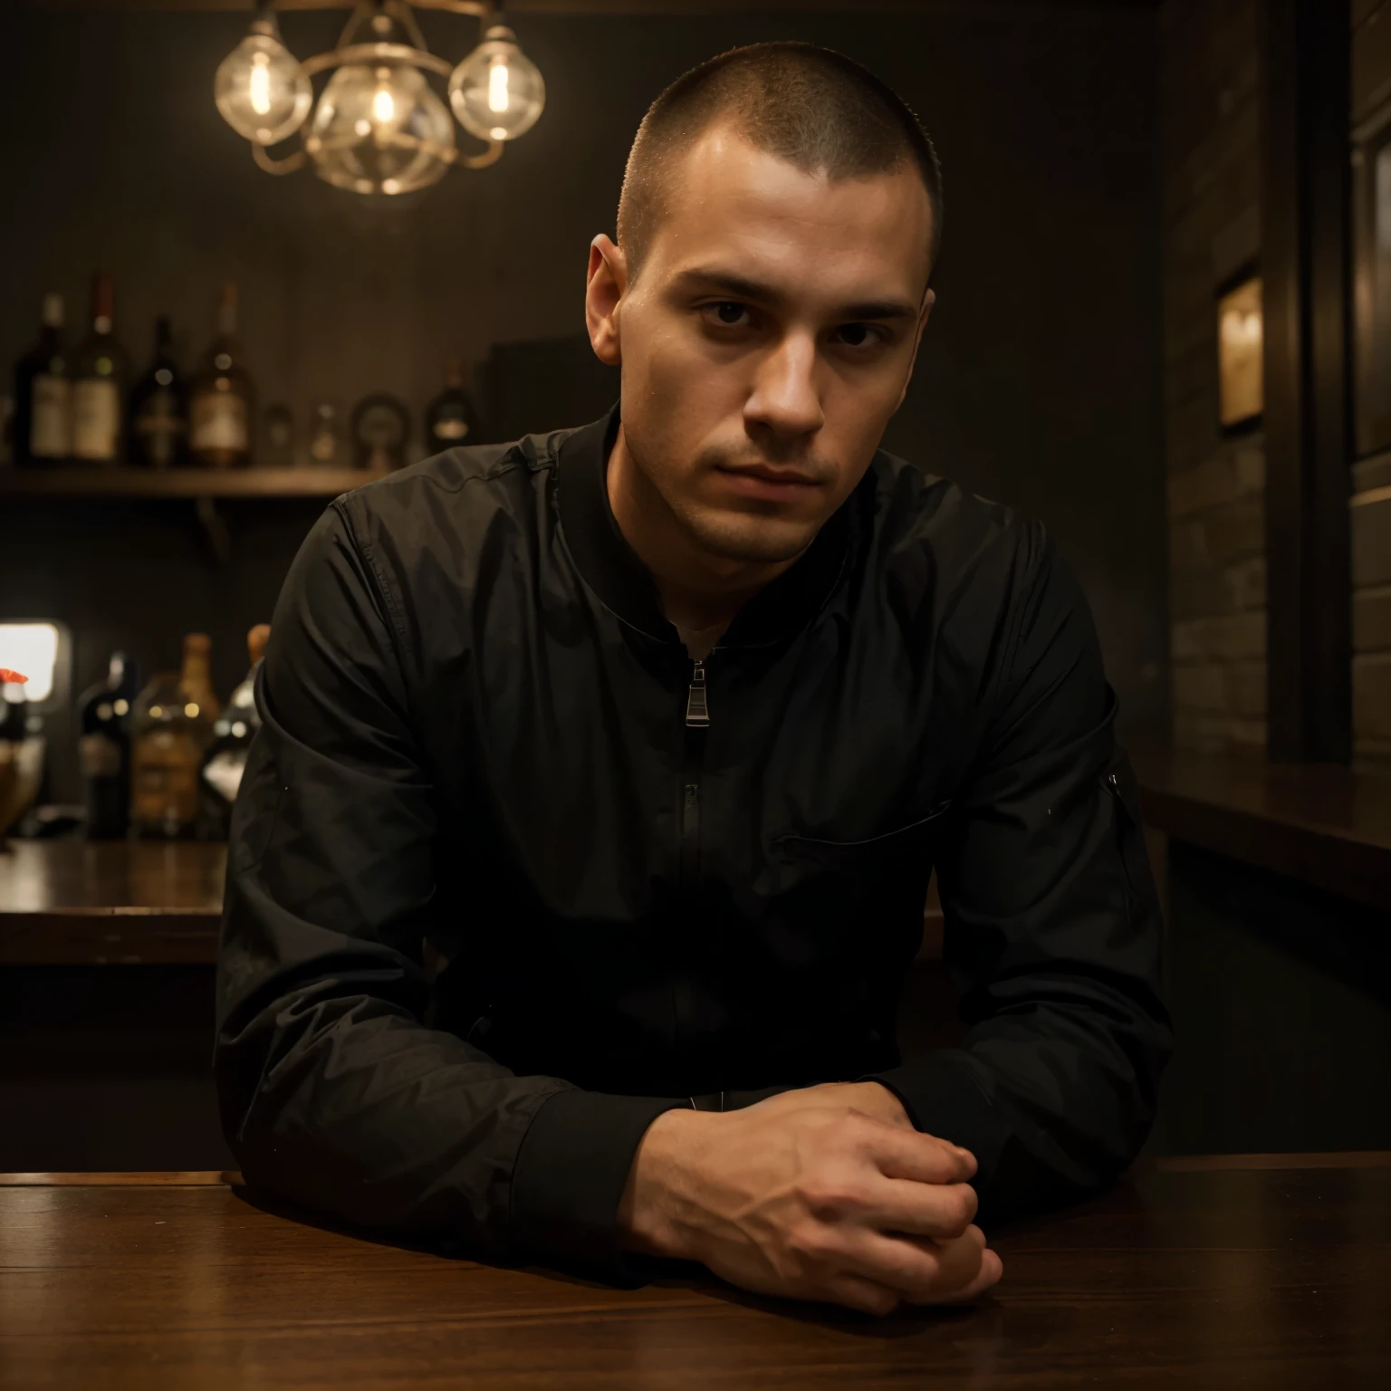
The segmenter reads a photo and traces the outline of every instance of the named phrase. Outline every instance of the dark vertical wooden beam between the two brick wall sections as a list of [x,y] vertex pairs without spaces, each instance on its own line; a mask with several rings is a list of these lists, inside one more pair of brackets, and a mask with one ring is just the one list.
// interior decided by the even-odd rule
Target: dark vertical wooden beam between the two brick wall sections
[[1269,753],[1352,755],[1349,10],[1262,0]]

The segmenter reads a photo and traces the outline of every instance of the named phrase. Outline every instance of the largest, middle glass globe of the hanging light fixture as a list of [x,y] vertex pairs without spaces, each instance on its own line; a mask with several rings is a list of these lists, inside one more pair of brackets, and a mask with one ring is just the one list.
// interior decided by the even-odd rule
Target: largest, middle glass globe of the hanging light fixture
[[305,149],[338,188],[409,193],[449,168],[453,121],[419,70],[351,64],[328,79]]

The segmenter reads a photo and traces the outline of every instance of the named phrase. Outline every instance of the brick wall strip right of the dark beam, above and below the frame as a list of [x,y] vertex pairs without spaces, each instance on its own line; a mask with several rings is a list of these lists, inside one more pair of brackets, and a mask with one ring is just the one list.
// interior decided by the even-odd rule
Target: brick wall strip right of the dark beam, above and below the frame
[[[1391,97],[1391,0],[1352,11],[1352,122]],[[1352,753],[1391,761],[1391,453],[1352,469]]]

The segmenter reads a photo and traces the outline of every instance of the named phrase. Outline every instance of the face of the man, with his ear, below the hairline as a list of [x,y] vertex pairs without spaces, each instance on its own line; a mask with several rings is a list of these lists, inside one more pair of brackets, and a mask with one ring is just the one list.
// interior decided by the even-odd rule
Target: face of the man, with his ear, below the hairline
[[702,552],[789,561],[864,476],[931,307],[929,231],[911,167],[833,184],[716,125],[636,280],[595,242],[627,451]]

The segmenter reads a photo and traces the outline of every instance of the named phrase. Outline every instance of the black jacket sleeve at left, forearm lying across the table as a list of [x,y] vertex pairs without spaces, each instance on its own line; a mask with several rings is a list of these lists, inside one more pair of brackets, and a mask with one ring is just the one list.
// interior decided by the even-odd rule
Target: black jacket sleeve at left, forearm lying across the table
[[317,1212],[622,1277],[619,1199],[672,1103],[516,1077],[424,1022],[435,803],[394,604],[335,504],[257,673],[217,978],[225,1134],[252,1182]]

